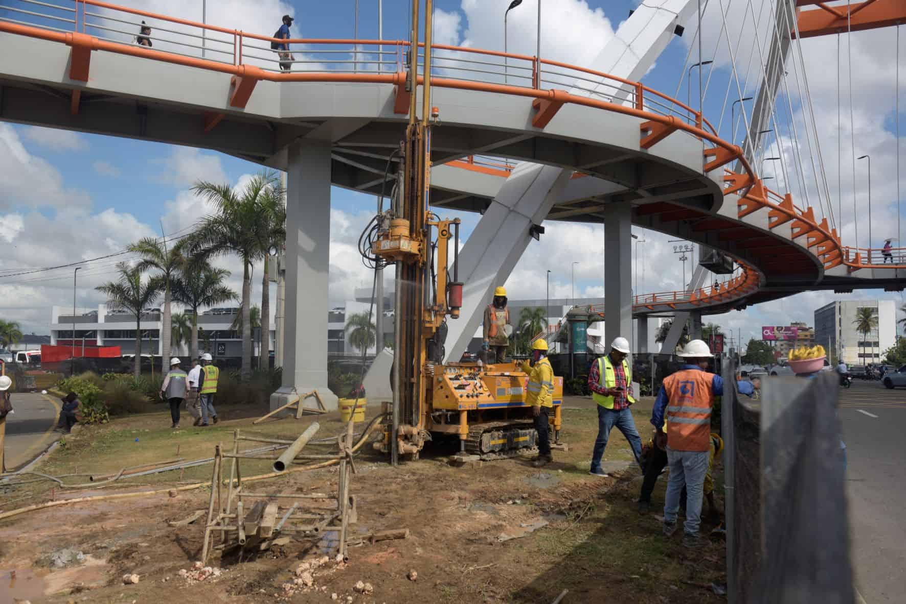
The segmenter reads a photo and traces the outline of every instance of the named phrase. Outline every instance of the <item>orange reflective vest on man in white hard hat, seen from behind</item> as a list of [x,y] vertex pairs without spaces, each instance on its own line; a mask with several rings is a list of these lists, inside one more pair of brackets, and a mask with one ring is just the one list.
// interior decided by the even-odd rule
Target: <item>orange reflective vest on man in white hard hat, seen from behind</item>
[[664,379],[667,392],[667,446],[678,451],[707,451],[711,435],[714,373],[685,369]]

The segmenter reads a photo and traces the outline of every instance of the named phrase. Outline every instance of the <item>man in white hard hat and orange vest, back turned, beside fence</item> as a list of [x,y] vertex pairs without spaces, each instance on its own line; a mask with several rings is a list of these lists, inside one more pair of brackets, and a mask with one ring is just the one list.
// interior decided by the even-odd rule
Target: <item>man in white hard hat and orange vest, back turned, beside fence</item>
[[[719,375],[705,371],[713,357],[704,341],[692,340],[679,356],[685,364],[661,384],[651,411],[651,424],[658,430],[656,439],[659,446],[666,444],[670,467],[663,533],[668,537],[676,533],[679,498],[682,487],[686,486],[686,522],[683,524],[682,543],[694,548],[702,543],[699,525],[705,475],[708,473],[711,410],[715,397],[724,393],[724,382]],[[666,434],[660,431],[665,412],[669,418]]]

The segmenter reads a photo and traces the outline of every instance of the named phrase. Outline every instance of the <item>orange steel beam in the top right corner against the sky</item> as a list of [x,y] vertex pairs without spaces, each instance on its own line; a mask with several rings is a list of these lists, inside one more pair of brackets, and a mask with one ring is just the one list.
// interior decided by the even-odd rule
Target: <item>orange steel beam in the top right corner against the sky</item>
[[[906,22],[906,3],[902,0],[867,0],[849,6],[826,6],[817,0],[799,0],[797,6],[821,5],[799,13],[799,36],[814,38],[847,31],[862,32],[879,27],[892,27]],[[795,38],[795,32],[791,32]]]

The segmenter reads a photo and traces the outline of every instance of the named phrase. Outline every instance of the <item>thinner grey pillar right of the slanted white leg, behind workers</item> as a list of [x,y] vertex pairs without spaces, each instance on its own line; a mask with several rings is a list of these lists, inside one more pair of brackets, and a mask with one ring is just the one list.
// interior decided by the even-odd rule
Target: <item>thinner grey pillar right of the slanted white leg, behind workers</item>
[[632,206],[612,203],[604,214],[604,345],[610,349],[613,338],[632,342]]

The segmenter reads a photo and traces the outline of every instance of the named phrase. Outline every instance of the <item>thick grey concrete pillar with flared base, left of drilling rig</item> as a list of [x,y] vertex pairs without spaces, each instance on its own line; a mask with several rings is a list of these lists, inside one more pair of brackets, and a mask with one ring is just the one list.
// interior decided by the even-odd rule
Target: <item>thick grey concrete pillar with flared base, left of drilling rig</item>
[[270,407],[313,390],[328,409],[327,298],[331,243],[330,142],[296,141],[287,148],[284,369]]

